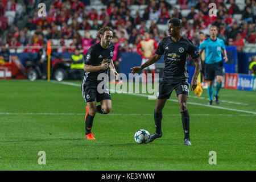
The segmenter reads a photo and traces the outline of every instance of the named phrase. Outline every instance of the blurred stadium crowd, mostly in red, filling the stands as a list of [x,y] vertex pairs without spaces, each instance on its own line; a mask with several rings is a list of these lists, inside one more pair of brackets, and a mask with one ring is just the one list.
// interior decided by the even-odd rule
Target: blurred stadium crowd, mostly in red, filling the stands
[[[98,30],[99,27],[110,26],[114,28],[114,36],[118,38],[123,52],[137,52],[137,46],[143,40],[144,32],[149,32],[150,38],[159,43],[167,34],[158,25],[167,24],[170,18],[179,18],[182,20],[184,36],[191,39],[196,46],[200,44],[199,33],[208,30],[209,24],[217,26],[218,38],[223,39],[225,45],[244,46],[245,43],[255,43],[256,39],[255,1],[245,0],[246,6],[241,9],[234,0],[225,3],[217,0],[177,0],[176,4],[180,5],[178,9],[163,0],[108,0],[101,1],[107,6],[106,9],[96,11],[91,8],[86,11],[86,6],[90,4],[89,0],[54,0],[49,6],[46,17],[38,17],[38,12],[35,11],[34,16],[30,16],[26,24],[10,28],[6,39],[0,39],[0,43],[9,47],[28,46],[24,52],[38,52],[39,48],[29,48],[29,46],[42,46],[43,41],[48,39],[60,39],[60,45],[56,46],[63,48],[55,50],[56,52],[74,53],[77,48],[80,52],[86,53],[88,47],[96,43],[96,40],[90,36],[89,31],[85,31],[85,35],[80,35],[78,30]],[[209,16],[208,5],[211,2],[217,5],[217,16]],[[0,16],[3,17],[5,11],[15,11],[16,25],[19,16],[36,10],[38,3],[39,1],[36,0],[23,0],[23,5],[19,5],[15,0],[0,0]],[[225,6],[227,3],[231,5],[229,9]],[[142,16],[139,12],[132,16],[131,5],[148,6]],[[181,10],[184,9],[191,10],[187,16],[181,14]],[[234,14],[242,14],[242,20],[236,21]],[[149,28],[146,26],[148,20],[151,21]],[[102,23],[98,23],[99,21]],[[137,26],[138,24],[140,26]],[[34,34],[31,35],[30,31],[34,31]],[[66,45],[65,39],[72,39],[72,43]],[[70,46],[75,48],[69,48]],[[238,47],[238,50],[241,49],[242,47]]]

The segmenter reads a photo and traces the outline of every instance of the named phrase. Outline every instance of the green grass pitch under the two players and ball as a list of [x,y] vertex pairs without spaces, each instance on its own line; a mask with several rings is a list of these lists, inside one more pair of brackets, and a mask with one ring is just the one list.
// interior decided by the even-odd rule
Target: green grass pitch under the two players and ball
[[[94,118],[96,140],[86,140],[81,82],[72,83],[0,80],[0,170],[256,169],[255,92],[221,89],[221,104],[213,107],[206,89],[201,97],[189,93],[192,146],[184,146],[172,93],[163,137],[139,145],[137,130],[155,131],[155,100],[113,93],[111,113]],[[46,152],[46,165],[38,164],[39,151]],[[216,151],[216,165],[208,163],[210,151]]]

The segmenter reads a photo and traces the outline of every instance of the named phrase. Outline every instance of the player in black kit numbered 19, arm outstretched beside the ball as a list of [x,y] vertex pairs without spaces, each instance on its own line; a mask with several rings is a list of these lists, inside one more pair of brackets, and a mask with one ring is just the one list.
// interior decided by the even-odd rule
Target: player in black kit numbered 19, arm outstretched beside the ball
[[187,109],[187,98],[189,93],[187,59],[188,54],[195,60],[196,68],[191,82],[191,90],[195,90],[197,86],[197,76],[201,70],[201,60],[199,52],[193,45],[191,40],[181,36],[181,23],[177,18],[172,18],[168,22],[169,35],[159,43],[155,55],[140,67],[131,68],[131,73],[141,72],[142,69],[154,64],[162,55],[164,55],[164,75],[163,80],[159,84],[158,98],[156,98],[156,106],[154,111],[156,131],[150,137],[150,142],[156,138],[162,137],[162,110],[166,100],[170,98],[172,90],[175,89],[179,99],[181,121],[184,130],[184,144],[191,145],[189,139],[189,114]]

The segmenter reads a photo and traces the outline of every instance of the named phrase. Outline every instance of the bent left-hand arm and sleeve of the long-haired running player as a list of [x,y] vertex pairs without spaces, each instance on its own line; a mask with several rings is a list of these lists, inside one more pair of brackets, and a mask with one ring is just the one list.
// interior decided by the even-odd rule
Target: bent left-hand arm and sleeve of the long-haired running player
[[84,71],[85,72],[98,72],[101,70],[106,70],[109,68],[108,61],[103,60],[101,65],[93,66],[92,60],[95,59],[94,49],[92,47],[89,48],[86,56],[84,57]]

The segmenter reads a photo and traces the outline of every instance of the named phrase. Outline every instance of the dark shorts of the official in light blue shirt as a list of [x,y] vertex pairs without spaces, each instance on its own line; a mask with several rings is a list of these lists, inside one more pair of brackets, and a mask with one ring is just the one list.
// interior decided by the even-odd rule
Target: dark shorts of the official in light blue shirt
[[213,81],[215,76],[223,76],[223,62],[219,61],[213,64],[205,63],[204,78],[208,81]]

